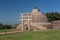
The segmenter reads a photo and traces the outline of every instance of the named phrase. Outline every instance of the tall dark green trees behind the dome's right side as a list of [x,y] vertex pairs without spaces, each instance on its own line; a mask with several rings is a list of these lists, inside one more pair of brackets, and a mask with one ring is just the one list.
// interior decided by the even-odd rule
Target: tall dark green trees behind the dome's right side
[[59,12],[47,12],[45,15],[47,16],[48,21],[60,20]]

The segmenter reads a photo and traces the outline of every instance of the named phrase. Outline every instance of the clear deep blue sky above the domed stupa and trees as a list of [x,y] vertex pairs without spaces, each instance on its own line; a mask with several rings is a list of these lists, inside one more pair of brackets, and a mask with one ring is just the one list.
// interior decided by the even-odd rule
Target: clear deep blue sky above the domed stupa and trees
[[60,0],[0,0],[0,23],[20,23],[21,12],[31,12],[38,7],[41,12],[60,12]]

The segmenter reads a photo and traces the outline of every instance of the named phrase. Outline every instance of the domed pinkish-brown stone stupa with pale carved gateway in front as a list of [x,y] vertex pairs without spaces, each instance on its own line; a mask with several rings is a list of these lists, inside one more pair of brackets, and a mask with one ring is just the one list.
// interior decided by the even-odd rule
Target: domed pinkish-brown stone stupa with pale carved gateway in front
[[47,17],[39,11],[37,7],[32,9],[32,12],[21,13],[21,24],[17,26],[20,31],[36,31],[51,29],[51,23]]

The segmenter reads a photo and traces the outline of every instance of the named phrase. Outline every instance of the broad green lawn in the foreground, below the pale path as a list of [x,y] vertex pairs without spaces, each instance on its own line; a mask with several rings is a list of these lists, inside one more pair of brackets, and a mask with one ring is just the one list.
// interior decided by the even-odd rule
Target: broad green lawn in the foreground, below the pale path
[[60,40],[60,30],[6,34],[0,35],[0,40]]

